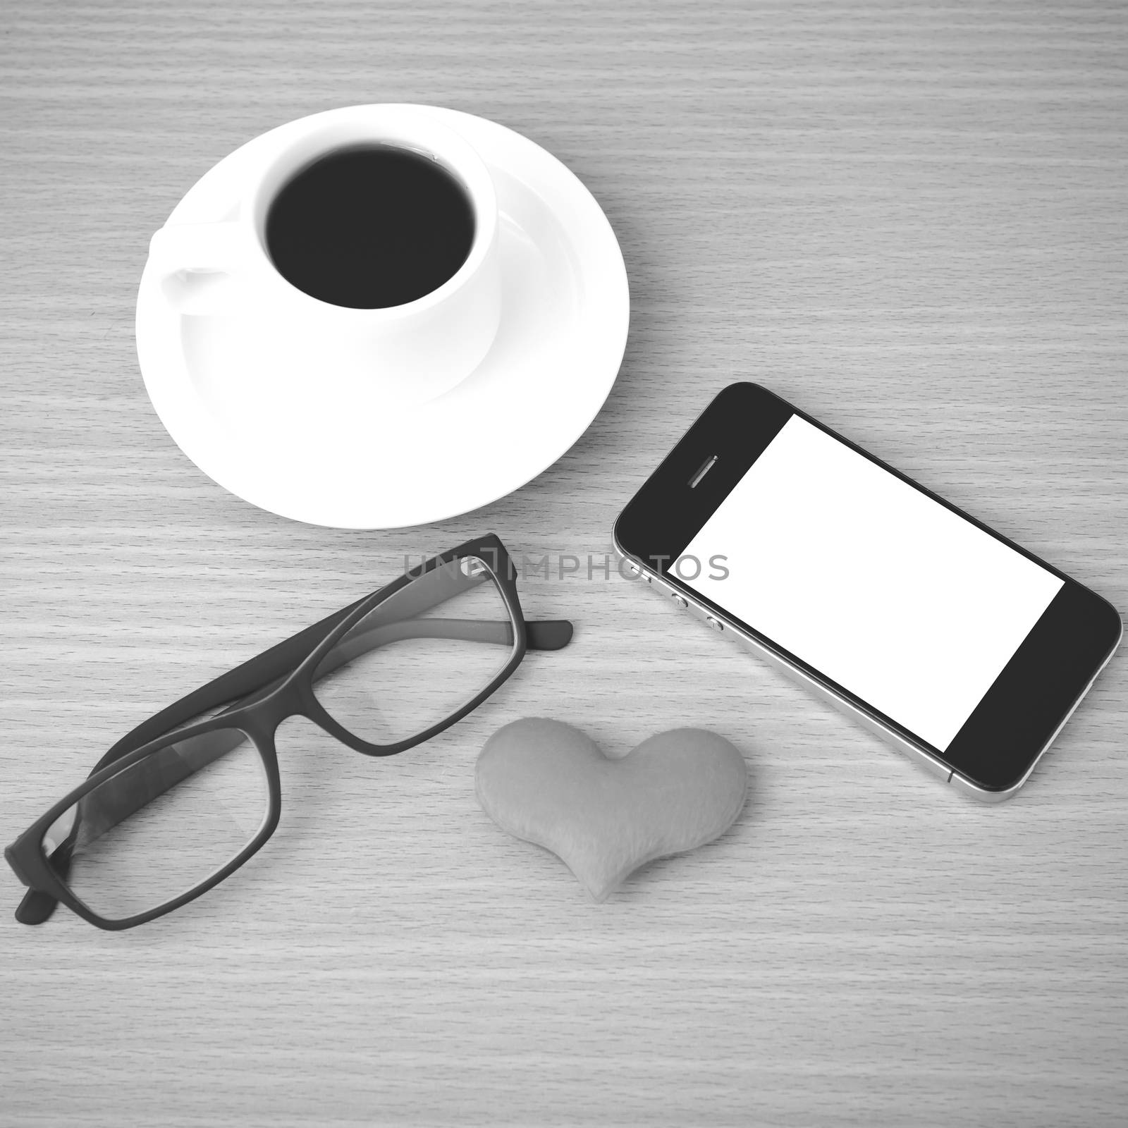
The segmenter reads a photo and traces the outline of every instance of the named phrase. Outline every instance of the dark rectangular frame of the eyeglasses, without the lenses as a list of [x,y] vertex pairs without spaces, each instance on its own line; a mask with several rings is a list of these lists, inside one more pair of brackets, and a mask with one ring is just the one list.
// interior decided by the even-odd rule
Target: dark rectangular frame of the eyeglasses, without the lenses
[[[336,643],[373,608],[395,596],[414,580],[434,569],[459,559],[476,558],[497,584],[513,625],[513,651],[509,660],[484,689],[475,694],[449,716],[416,735],[395,743],[379,744],[361,740],[335,721],[314,694],[314,672]],[[277,750],[274,737],[279,725],[291,716],[305,716],[320,729],[335,737],[343,744],[365,756],[394,756],[421,744],[477,708],[491,694],[496,691],[517,669],[529,649],[529,636],[535,634],[534,647],[558,650],[572,637],[572,624],[566,620],[526,623],[517,593],[517,579],[505,546],[495,534],[487,534],[475,540],[451,548],[439,556],[412,569],[391,583],[365,596],[343,610],[331,615],[320,623],[307,627],[285,642],[263,652],[235,670],[214,679],[187,697],[138,725],[123,737],[98,761],[91,774],[79,786],[70,791],[45,814],[41,816],[10,846],[5,849],[5,858],[16,876],[28,887],[28,895],[17,910],[17,919],[37,924],[46,919],[55,902],[65,905],[83,920],[107,931],[116,932],[146,924],[157,917],[187,905],[229,878],[253,857],[274,834],[282,813],[282,790],[279,774]],[[320,638],[318,642],[317,638]],[[310,646],[312,649],[310,650]],[[287,664],[289,662],[289,666]],[[297,663],[297,664],[294,664]],[[289,672],[280,675],[280,669]],[[235,700],[223,712],[201,721],[178,728],[185,720]],[[188,712],[191,710],[191,712]],[[177,715],[180,720],[174,720]],[[103,917],[81,901],[67,883],[55,873],[44,855],[41,845],[54,823],[69,808],[89,792],[113,778],[117,773],[147,756],[166,748],[169,737],[177,741],[188,740],[218,730],[236,729],[244,732],[254,743],[263,761],[266,774],[268,808],[255,837],[226,865],[205,878],[187,892],[159,905],[153,909],[121,919]],[[136,740],[148,738],[136,746]],[[132,750],[131,750],[132,749]],[[39,895],[36,898],[35,895]],[[28,911],[21,911],[32,902]]]

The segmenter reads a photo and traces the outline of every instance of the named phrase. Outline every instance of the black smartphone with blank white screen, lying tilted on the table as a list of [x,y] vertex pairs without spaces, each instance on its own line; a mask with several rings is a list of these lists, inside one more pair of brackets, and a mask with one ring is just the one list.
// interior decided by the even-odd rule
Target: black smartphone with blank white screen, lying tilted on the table
[[725,388],[615,525],[626,567],[978,799],[1112,656],[1107,600],[766,388]]

